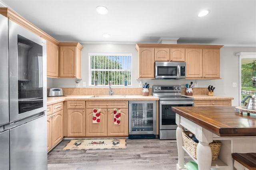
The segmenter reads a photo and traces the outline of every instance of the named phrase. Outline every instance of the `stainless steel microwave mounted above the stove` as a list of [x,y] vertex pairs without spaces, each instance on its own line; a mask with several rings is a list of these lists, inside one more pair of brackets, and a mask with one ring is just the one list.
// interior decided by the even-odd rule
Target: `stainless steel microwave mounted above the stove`
[[155,62],[155,79],[186,78],[186,62]]

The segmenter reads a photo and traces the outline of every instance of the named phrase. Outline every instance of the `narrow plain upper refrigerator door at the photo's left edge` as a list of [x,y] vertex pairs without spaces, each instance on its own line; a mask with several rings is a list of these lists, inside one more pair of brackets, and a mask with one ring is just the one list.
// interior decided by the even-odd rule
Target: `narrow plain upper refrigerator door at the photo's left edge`
[[8,82],[8,19],[0,15],[0,126],[9,123]]

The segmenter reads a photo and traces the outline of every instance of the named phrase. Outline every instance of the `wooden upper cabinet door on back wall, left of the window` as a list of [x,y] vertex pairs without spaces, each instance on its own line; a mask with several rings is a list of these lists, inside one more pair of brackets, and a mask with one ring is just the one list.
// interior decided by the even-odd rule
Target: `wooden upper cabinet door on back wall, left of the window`
[[76,47],[60,47],[60,77],[76,77]]

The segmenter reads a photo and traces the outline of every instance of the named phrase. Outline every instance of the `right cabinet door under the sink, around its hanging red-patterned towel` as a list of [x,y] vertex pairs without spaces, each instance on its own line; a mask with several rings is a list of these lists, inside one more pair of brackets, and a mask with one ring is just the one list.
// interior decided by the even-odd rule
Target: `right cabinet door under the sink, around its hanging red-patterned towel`
[[108,136],[128,136],[128,109],[121,109],[120,125],[114,124],[114,111],[108,109]]

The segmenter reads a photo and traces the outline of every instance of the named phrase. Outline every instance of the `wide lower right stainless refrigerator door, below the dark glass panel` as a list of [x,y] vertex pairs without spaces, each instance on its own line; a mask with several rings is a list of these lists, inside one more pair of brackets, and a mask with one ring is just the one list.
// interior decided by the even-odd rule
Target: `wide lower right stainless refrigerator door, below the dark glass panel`
[[11,170],[47,170],[47,120],[42,113],[10,129]]

